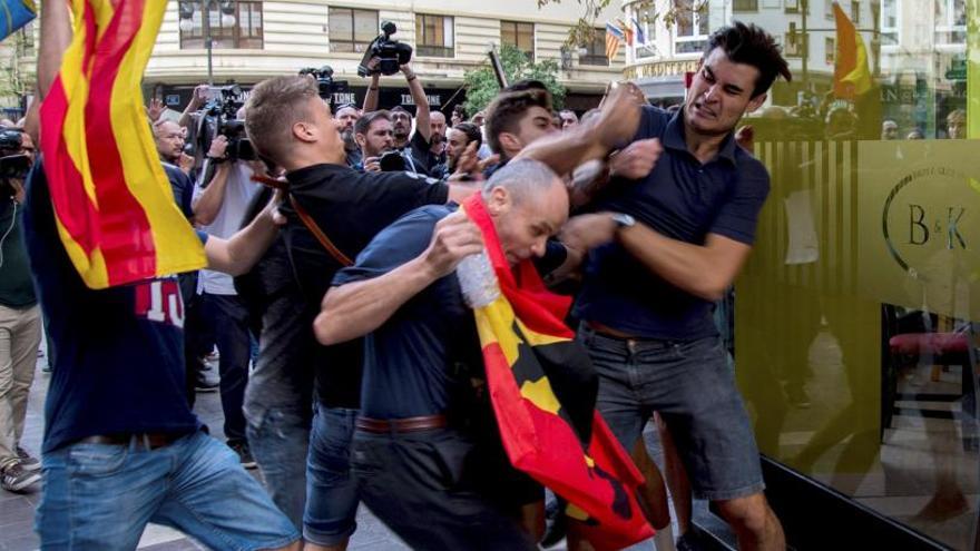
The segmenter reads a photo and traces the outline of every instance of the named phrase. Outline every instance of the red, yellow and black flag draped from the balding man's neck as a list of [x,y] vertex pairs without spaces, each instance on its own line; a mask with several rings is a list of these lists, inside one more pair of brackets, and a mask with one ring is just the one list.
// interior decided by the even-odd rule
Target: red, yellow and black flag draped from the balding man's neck
[[598,381],[562,318],[570,298],[530,260],[511,272],[480,194],[463,204],[483,234],[501,295],[477,308],[487,385],[511,464],[569,502],[597,550],[654,535],[636,499],[644,479],[595,410]]

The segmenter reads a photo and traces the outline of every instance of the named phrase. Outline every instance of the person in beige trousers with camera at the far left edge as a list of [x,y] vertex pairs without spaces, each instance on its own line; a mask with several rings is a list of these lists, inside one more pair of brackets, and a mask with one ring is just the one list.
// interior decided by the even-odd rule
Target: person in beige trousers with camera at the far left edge
[[0,127],[0,488],[8,492],[21,492],[41,478],[38,460],[20,447],[41,341],[22,236],[23,178],[32,152],[27,134]]

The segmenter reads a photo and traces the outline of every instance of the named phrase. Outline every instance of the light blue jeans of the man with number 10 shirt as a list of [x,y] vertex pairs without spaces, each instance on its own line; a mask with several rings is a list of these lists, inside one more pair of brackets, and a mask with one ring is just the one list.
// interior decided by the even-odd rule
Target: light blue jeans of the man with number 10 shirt
[[156,450],[78,443],[42,456],[41,549],[133,550],[147,522],[210,549],[288,545],[300,534],[226,445],[203,432]]

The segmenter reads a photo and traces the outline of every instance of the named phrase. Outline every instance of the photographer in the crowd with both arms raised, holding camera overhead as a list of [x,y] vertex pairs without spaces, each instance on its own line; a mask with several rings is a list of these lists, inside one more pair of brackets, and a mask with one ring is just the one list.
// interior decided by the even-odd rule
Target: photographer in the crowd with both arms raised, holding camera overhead
[[[412,95],[412,102],[415,104],[415,131],[412,134],[412,114],[402,106],[395,106],[391,109],[392,130],[394,132],[394,147],[402,152],[405,158],[408,170],[413,173],[429,175],[432,166],[429,164],[429,150],[432,147],[432,126],[429,112],[429,98],[425,90],[422,89],[422,82],[415,71],[412,70],[411,63],[400,67],[409,83],[409,92]],[[364,112],[371,112],[378,109],[379,82],[381,73],[375,72],[371,76],[371,86],[367,87],[367,95],[364,97]],[[443,126],[445,125],[443,119]]]

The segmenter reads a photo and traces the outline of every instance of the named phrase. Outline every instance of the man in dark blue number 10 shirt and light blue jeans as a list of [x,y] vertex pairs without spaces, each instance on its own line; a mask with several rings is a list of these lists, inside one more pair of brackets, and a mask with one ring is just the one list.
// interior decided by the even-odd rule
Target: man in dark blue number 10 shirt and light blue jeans
[[[45,407],[41,545],[135,549],[157,522],[215,549],[294,549],[295,528],[187,405],[177,278],[88,288],[58,237],[40,161],[28,194],[26,244],[58,348]],[[271,217],[228,242],[199,234],[208,264],[247,269],[275,235]]]

